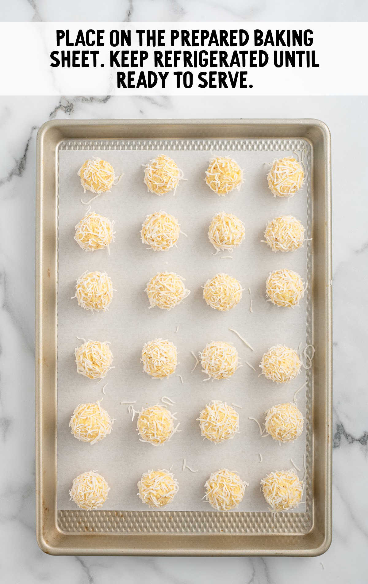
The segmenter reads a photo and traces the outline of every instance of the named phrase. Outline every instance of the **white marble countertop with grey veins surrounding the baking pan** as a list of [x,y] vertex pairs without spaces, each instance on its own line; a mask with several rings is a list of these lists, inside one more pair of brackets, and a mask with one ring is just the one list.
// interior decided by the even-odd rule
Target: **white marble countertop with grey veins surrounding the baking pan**
[[[2,20],[366,20],[366,2],[12,0]],[[76,9],[78,6],[78,10]],[[280,2],[277,3],[280,6]],[[0,98],[0,582],[367,582],[368,98]],[[321,558],[48,557],[34,534],[34,180],[48,119],[316,117],[332,134],[334,538]],[[15,231],[14,226],[18,229]],[[20,228],[19,228],[20,227]]]

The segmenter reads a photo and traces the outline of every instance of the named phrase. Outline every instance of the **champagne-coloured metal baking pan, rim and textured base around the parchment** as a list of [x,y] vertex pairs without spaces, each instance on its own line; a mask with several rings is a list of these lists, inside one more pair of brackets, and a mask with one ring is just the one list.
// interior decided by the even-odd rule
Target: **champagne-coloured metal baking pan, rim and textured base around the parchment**
[[[58,150],[283,150],[307,141],[307,485],[303,513],[58,511],[56,508]],[[37,150],[37,532],[54,554],[315,555],[331,539],[331,242],[329,133],[316,120],[50,122]],[[318,388],[318,391],[315,389]],[[316,453],[318,452],[318,457]],[[216,539],[214,540],[214,535]]]

